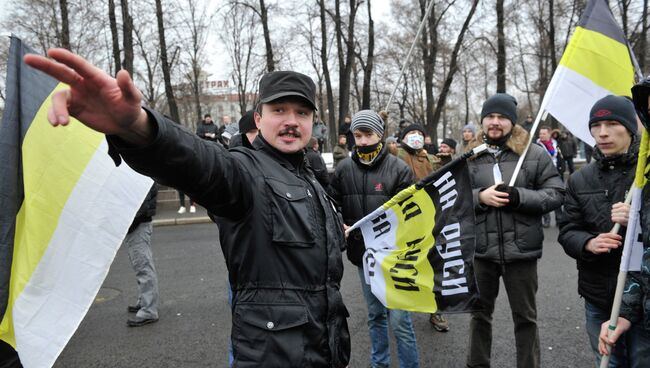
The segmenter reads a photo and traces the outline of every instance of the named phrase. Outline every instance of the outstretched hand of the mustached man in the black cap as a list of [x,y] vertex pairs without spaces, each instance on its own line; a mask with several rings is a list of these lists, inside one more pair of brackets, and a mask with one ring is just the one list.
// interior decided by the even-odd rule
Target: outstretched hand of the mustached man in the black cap
[[50,49],[46,57],[25,55],[27,65],[70,86],[52,96],[47,117],[53,126],[67,125],[70,116],[89,128],[117,135],[134,145],[153,139],[152,125],[142,109],[140,91],[129,73],[121,70],[113,78],[79,55],[65,49]]

